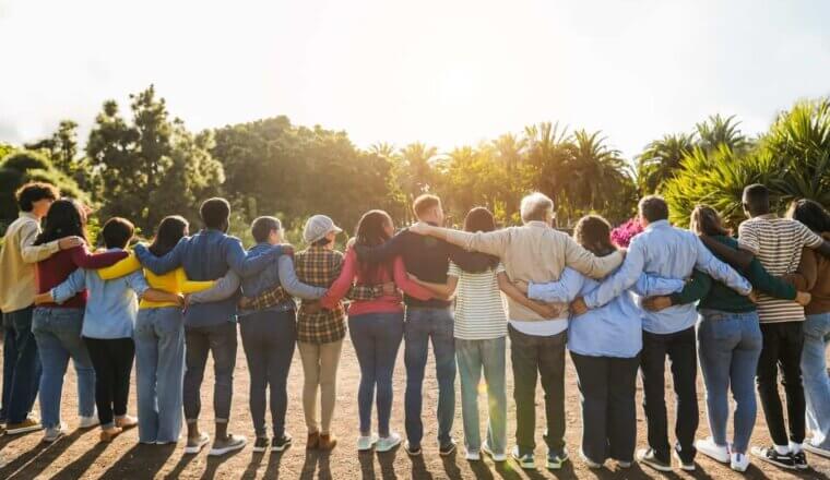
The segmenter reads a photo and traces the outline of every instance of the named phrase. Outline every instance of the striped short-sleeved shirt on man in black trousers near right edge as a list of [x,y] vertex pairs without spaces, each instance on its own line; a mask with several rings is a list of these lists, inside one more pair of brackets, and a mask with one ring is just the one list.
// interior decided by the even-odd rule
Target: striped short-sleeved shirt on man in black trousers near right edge
[[[750,218],[738,228],[740,248],[752,252],[774,276],[795,273],[802,261],[802,249],[815,249],[821,242],[821,237],[802,223],[774,214]],[[761,323],[801,322],[804,321],[804,307],[792,300],[759,295],[758,315]]]

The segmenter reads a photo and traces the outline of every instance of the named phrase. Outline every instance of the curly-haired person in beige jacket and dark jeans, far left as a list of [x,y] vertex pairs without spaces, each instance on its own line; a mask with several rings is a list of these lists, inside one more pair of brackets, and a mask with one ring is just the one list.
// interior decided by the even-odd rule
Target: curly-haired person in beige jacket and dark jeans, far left
[[9,434],[40,430],[40,422],[28,418],[40,380],[40,359],[32,335],[35,263],[84,242],[79,237],[67,237],[35,247],[40,220],[60,192],[49,183],[26,183],[15,196],[20,216],[5,230],[0,250],[0,310],[4,332],[0,421],[5,423]]

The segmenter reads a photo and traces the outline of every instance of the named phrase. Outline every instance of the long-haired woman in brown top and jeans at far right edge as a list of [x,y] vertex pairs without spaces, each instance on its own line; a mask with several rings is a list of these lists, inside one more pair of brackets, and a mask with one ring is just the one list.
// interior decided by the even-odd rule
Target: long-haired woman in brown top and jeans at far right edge
[[[795,202],[787,214],[807,228],[830,240],[830,214],[811,200]],[[830,457],[830,377],[827,374],[827,346],[830,344],[830,261],[805,249],[808,261],[816,263],[817,276],[809,286],[813,296],[804,309],[804,350],[802,376],[807,399],[807,427],[813,439],[804,449]]]

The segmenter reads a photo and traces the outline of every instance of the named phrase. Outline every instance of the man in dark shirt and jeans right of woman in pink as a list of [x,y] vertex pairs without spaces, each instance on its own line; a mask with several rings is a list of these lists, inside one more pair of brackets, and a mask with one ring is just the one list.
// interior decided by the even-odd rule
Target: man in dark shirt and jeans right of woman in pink
[[[435,195],[425,194],[415,199],[413,212],[419,221],[435,226],[443,224],[441,201]],[[484,272],[489,267],[486,255],[472,254],[447,242],[414,235],[407,230],[403,230],[382,247],[357,247],[356,251],[360,261],[372,263],[387,262],[401,255],[408,273],[424,281],[436,284],[447,281],[450,260],[470,272]],[[437,299],[422,301],[404,296],[404,303],[406,453],[417,456],[422,452],[422,388],[431,339],[438,379],[439,453],[447,456],[455,449],[455,441],[452,439],[452,422],[455,417],[455,347],[451,302]]]

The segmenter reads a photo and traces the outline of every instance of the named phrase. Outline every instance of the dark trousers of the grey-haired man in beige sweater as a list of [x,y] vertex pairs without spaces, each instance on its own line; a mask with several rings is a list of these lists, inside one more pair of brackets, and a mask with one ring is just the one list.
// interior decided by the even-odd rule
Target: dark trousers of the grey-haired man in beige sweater
[[519,451],[524,455],[536,447],[536,379],[540,379],[545,391],[545,443],[550,451],[561,452],[565,448],[566,333],[542,337],[525,335],[512,326],[509,333]]

